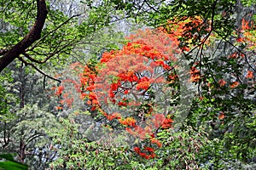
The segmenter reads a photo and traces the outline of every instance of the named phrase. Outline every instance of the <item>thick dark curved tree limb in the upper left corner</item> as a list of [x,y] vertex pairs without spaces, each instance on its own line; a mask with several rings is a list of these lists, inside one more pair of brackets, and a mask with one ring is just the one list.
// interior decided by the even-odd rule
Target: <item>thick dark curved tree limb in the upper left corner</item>
[[10,48],[3,57],[0,58],[0,72],[9,65],[13,60],[24,53],[26,48],[30,47],[33,42],[37,41],[41,37],[41,31],[44,27],[44,22],[47,16],[47,7],[45,0],[37,0],[38,14],[37,19],[32,26],[32,29],[28,32],[26,37],[24,37],[20,42],[18,42],[14,47]]

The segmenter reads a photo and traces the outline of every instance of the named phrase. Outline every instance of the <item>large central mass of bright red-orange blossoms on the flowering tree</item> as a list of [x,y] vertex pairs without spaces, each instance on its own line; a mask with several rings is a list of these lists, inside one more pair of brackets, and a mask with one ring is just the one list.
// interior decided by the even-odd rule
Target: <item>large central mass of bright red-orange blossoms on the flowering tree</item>
[[[195,20],[195,24],[199,24]],[[183,28],[181,23],[181,28]],[[151,144],[161,147],[160,140],[154,138],[154,129],[172,127],[172,119],[163,114],[154,113],[154,105],[146,111],[145,116],[148,125],[140,127],[137,118],[131,115],[122,116],[119,113],[106,113],[102,111],[102,105],[117,105],[119,108],[128,108],[141,105],[139,100],[126,99],[131,95],[139,97],[146,95],[148,89],[153,85],[169,84],[178,81],[177,75],[172,71],[170,63],[176,61],[175,54],[182,50],[178,48],[177,38],[182,36],[182,29],[175,28],[172,33],[164,31],[138,31],[130,37],[122,49],[102,54],[99,63],[88,63],[80,74],[80,83],[77,87],[86,105],[90,105],[90,111],[96,111],[105,116],[108,121],[117,119],[125,130],[139,139],[149,139]],[[194,36],[194,35],[190,35]],[[189,50],[183,47],[184,50]],[[73,65],[76,68],[78,65]],[[161,73],[155,76],[155,70],[160,69]],[[198,71],[191,71],[191,75],[197,76]],[[161,76],[164,75],[164,76]],[[61,94],[62,88],[58,88],[56,94]],[[72,101],[68,101],[69,103]],[[134,149],[135,152],[145,159],[154,158],[154,149],[145,147],[143,150]]]

